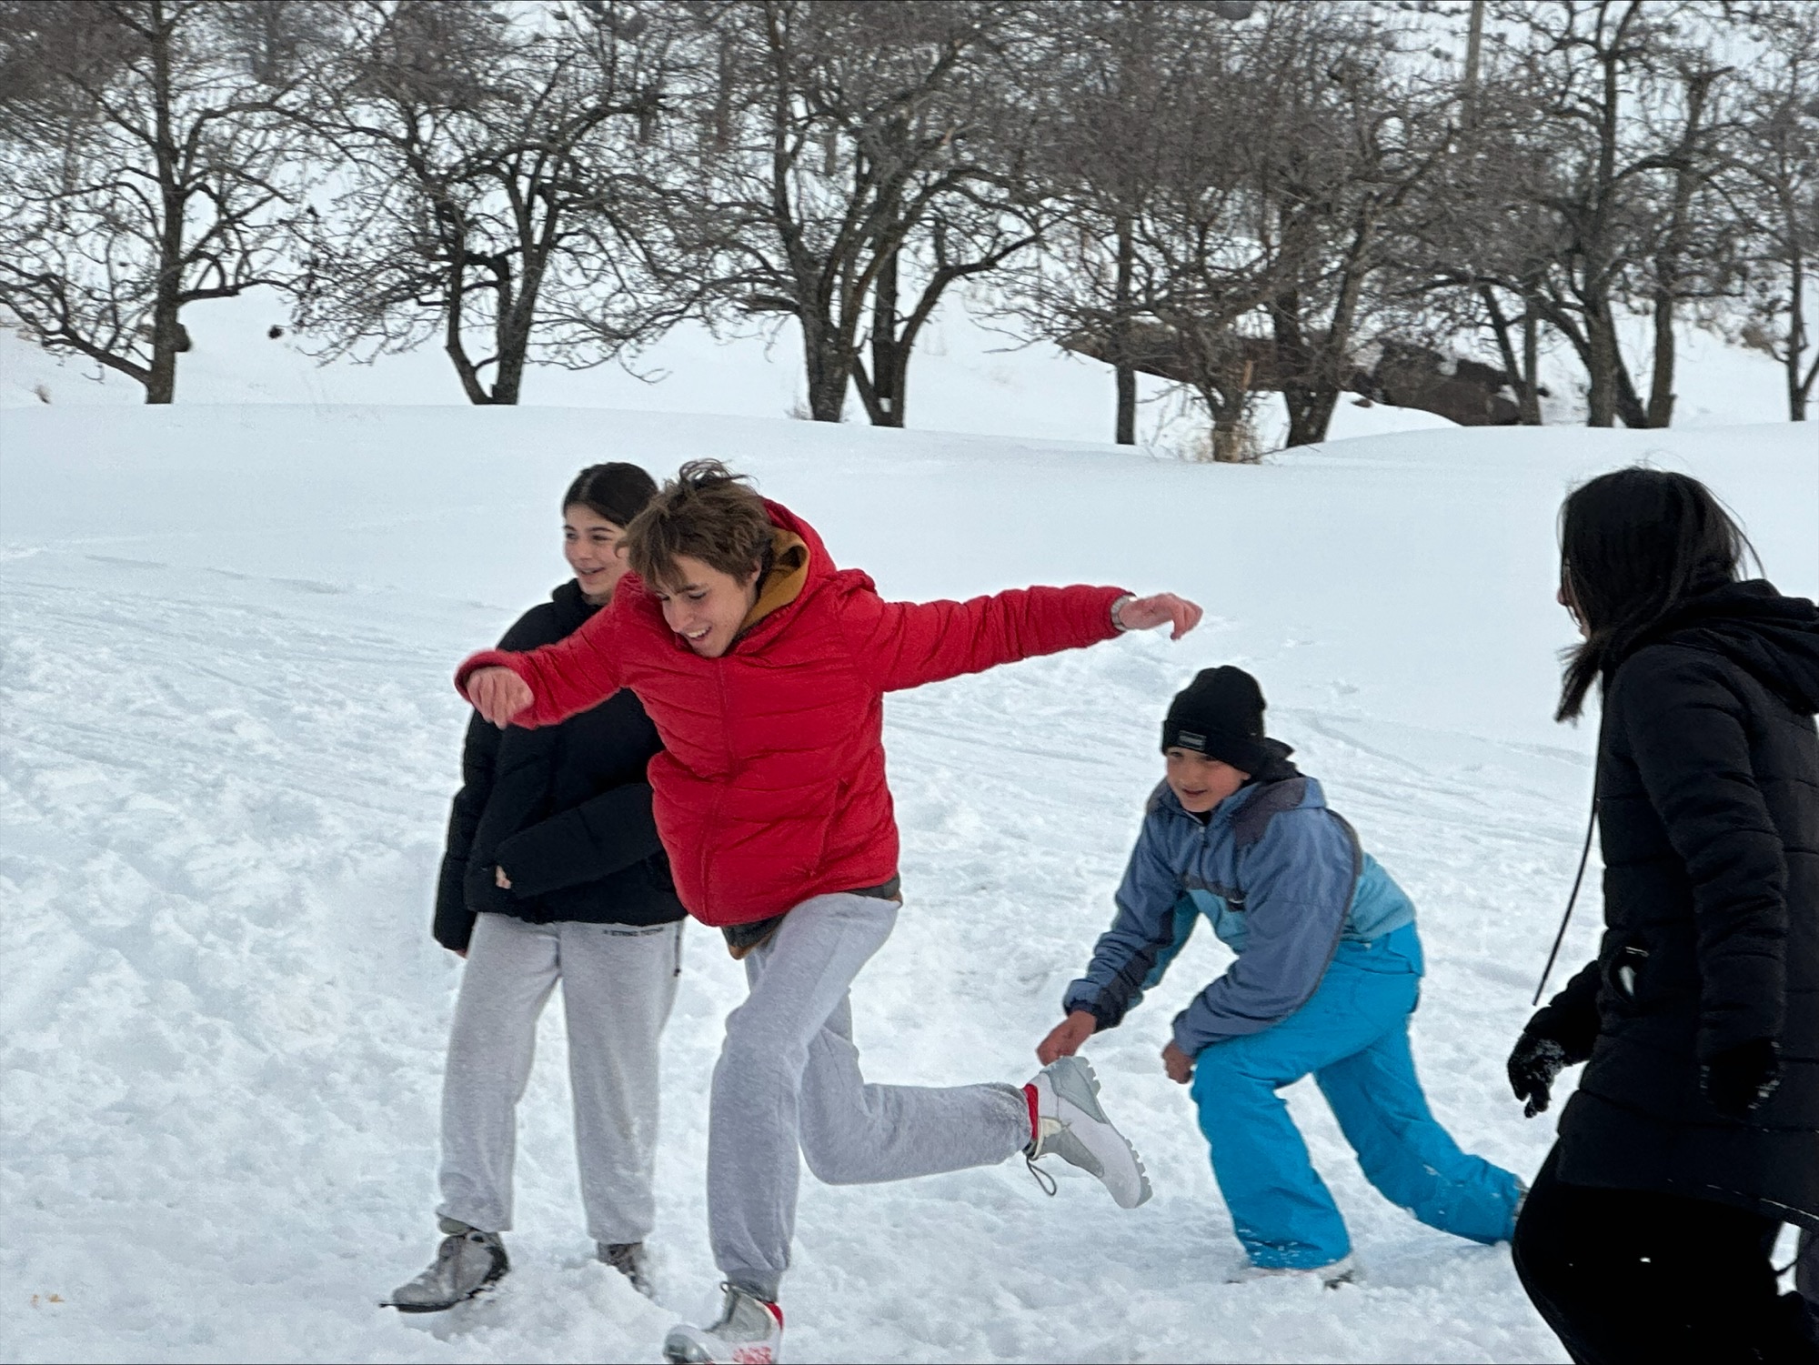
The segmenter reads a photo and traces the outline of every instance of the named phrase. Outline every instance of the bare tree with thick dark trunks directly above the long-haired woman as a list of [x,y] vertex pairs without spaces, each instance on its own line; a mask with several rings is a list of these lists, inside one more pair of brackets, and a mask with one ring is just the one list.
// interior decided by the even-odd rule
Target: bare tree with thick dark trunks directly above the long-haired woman
[[[1475,126],[1486,213],[1464,220],[1473,246],[1439,273],[1490,308],[1490,289],[1513,293],[1528,328],[1564,337],[1586,369],[1592,426],[1666,426],[1675,322],[1728,288],[1712,249],[1728,75],[1712,53],[1726,9],[1506,0],[1492,13]],[[1653,317],[1646,400],[1621,346],[1626,308]]]

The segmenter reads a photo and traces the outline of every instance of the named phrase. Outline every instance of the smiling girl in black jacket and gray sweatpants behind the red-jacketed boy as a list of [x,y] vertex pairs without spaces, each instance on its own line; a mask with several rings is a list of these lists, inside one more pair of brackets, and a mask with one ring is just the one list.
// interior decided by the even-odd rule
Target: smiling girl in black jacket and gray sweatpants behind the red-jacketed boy
[[[502,650],[560,641],[611,601],[626,524],[655,491],[635,464],[580,471],[562,499],[575,577],[526,612]],[[540,730],[478,715],[467,726],[435,914],[437,941],[467,959],[442,1079],[444,1238],[393,1307],[449,1309],[506,1272],[517,1103],[557,981],[588,1232],[602,1261],[649,1292],[657,1043],[684,917],[644,781],[658,748],[629,692]]]

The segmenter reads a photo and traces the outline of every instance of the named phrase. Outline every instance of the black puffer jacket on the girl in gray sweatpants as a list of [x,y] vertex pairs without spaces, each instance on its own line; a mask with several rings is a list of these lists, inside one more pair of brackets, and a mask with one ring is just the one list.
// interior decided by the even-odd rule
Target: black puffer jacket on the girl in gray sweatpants
[[[595,610],[571,579],[526,612],[498,648],[553,644]],[[475,715],[437,883],[437,943],[466,948],[482,910],[533,925],[682,919],[644,781],[660,748],[629,692],[540,730],[498,730]],[[509,892],[495,881],[500,866]]]

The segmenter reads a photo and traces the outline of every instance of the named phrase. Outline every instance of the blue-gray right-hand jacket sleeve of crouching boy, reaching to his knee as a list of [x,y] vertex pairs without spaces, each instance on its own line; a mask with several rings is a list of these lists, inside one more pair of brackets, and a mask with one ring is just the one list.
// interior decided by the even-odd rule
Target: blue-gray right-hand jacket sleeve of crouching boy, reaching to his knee
[[1244,952],[1175,1016],[1190,1057],[1211,1043],[1261,1034],[1313,996],[1326,976],[1357,888],[1357,852],[1326,810],[1288,810],[1239,854]]

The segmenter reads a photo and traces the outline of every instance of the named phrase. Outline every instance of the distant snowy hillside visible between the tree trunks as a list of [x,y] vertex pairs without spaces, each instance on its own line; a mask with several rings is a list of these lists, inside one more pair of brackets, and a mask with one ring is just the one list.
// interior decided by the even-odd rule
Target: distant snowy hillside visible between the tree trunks
[[[180,404],[447,404],[462,393],[435,346],[387,355],[373,364],[342,359],[318,366],[287,331],[286,304],[267,291],[195,304],[184,313],[195,349],[178,366]],[[1632,362],[1648,353],[1650,320],[1630,318]],[[284,331],[271,337],[273,328]],[[1488,359],[1488,357],[1486,357]],[[115,373],[93,379],[85,360],[60,360],[0,328],[0,408],[129,406],[136,384]],[[635,371],[635,373],[633,373]],[[1583,379],[1570,355],[1544,357],[1553,420],[1583,411]],[[1139,439],[1191,450],[1204,419],[1171,395],[1162,380],[1139,375]],[[1684,328],[1677,371],[1675,426],[1732,426],[1786,417],[1783,375],[1764,355],[1724,346],[1712,333]],[[698,324],[671,329],[633,369],[533,366],[526,406],[617,408],[726,417],[788,417],[804,408],[802,346],[793,326],[773,337],[715,339]],[[935,315],[910,368],[910,426],[1015,439],[1080,440],[1111,433],[1111,371],[1050,344],[1019,346],[979,322],[959,302]],[[848,417],[862,420],[859,400]],[[1359,408],[1342,400],[1332,439],[1384,431],[1450,428],[1442,417],[1412,408]],[[1275,395],[1259,400],[1259,437],[1281,444],[1286,411]]]

